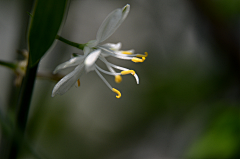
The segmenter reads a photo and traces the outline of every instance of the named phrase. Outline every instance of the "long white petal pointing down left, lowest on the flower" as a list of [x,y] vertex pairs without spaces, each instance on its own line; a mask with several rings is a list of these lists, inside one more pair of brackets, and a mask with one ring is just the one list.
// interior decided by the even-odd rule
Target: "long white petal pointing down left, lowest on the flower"
[[64,94],[67,92],[74,83],[80,78],[82,72],[83,72],[83,66],[79,65],[77,66],[71,73],[63,77],[53,88],[52,91],[52,97],[54,97],[56,94]]

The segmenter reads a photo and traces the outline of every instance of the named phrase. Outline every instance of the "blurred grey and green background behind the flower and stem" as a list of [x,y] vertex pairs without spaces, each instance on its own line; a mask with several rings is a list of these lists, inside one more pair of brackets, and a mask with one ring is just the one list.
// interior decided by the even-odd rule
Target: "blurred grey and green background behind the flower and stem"
[[[240,1],[72,0],[61,36],[78,43],[93,40],[105,17],[127,3],[127,19],[106,42],[122,42],[123,50],[149,56],[138,64],[109,61],[134,69],[140,84],[130,75],[121,84],[104,76],[121,91],[116,99],[90,72],[79,88],[52,98],[57,81],[38,78],[26,132],[32,148],[49,159],[240,158]],[[27,49],[32,4],[0,1],[1,60],[16,61],[17,50]],[[56,42],[39,73],[50,75],[72,53],[82,51]],[[14,80],[1,66],[5,114],[16,105]],[[34,155],[23,151],[19,158]]]

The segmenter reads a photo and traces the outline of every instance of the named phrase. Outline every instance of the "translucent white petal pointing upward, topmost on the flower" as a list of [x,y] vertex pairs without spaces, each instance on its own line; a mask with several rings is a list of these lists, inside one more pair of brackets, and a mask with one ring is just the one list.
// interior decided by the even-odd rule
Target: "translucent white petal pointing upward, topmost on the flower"
[[98,43],[103,42],[116,31],[121,19],[122,19],[121,9],[116,9],[107,16],[107,18],[103,21],[97,32],[96,39]]

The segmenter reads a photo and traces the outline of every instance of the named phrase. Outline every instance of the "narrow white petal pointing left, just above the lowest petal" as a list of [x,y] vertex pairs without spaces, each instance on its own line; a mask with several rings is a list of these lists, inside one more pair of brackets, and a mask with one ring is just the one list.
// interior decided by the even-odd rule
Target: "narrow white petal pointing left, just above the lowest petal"
[[66,61],[66,62],[58,65],[55,68],[55,70],[53,71],[53,73],[56,74],[58,71],[60,71],[62,69],[72,67],[72,66],[76,66],[76,65],[80,65],[81,63],[83,63],[84,59],[85,59],[85,56],[73,57],[69,61]]

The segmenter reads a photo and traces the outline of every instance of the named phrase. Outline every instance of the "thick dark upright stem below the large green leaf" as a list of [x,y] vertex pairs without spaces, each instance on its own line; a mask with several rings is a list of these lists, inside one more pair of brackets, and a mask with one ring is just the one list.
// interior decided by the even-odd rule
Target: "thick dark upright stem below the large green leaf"
[[[25,131],[34,83],[35,83],[36,74],[37,74],[37,68],[38,68],[38,63],[33,67],[30,67],[29,65],[27,66],[26,76],[23,79],[21,92],[18,99],[18,111],[16,114],[17,127],[15,128],[15,133],[17,133],[16,130],[20,130],[20,132],[22,133],[24,133]],[[21,145],[22,145],[22,142],[19,143],[18,141],[16,141],[16,139],[13,139],[13,143],[9,153],[9,159],[17,158],[17,154],[21,148]]]

